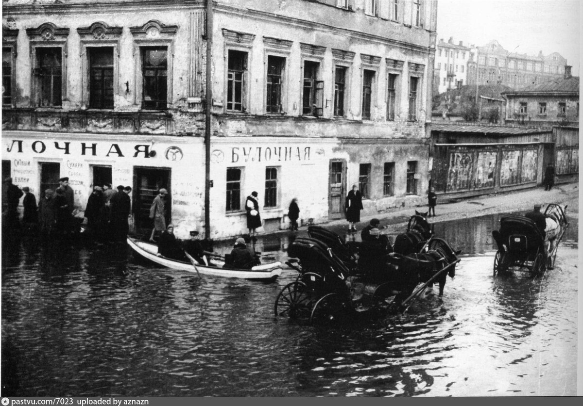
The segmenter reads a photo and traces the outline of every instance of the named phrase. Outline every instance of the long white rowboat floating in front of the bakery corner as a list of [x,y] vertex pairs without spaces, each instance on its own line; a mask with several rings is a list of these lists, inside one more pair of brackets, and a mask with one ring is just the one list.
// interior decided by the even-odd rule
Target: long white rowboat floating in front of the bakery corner
[[223,277],[238,277],[240,279],[262,280],[270,282],[282,274],[282,263],[271,262],[262,265],[254,266],[251,269],[227,269],[222,268],[224,262],[214,261],[217,266],[195,265],[194,263],[177,261],[167,257],[159,257],[157,254],[158,246],[156,244],[147,243],[146,241],[136,240],[128,237],[128,244],[132,249],[141,255],[143,258],[156,262],[159,265],[166,266],[166,268],[185,270],[187,272],[198,273],[201,275],[213,275]]

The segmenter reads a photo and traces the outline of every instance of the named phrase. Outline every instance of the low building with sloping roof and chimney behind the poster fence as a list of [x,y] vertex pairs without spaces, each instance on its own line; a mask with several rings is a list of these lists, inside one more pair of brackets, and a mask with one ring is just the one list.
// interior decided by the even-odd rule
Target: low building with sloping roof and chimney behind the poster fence
[[565,67],[562,78],[502,93],[507,123],[579,126],[579,77]]

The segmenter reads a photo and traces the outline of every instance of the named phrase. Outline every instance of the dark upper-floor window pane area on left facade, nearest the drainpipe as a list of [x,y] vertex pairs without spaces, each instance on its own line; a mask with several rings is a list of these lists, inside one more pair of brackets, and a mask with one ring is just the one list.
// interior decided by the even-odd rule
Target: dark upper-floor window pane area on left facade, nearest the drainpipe
[[168,95],[167,47],[142,48],[142,108],[165,109]]

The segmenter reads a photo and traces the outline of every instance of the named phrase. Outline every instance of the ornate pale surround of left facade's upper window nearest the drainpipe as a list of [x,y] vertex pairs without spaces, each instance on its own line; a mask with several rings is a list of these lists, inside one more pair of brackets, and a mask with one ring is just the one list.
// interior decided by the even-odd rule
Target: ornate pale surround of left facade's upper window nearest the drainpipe
[[[142,48],[166,47],[166,108],[169,110],[174,106],[174,40],[178,26],[166,26],[157,20],[150,20],[141,27],[129,27],[129,31],[134,36],[134,104],[140,109],[148,111],[159,111],[160,109],[149,109],[143,106],[143,66]],[[131,86],[131,85],[130,85]]]

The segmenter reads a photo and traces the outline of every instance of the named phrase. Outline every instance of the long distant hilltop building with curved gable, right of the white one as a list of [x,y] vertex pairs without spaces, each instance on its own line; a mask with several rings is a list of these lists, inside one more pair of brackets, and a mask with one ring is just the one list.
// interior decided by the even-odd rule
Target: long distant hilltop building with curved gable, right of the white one
[[536,56],[509,52],[496,40],[477,47],[475,54],[468,62],[468,84],[477,81],[479,85],[499,84],[515,90],[563,76],[567,63],[557,52],[546,56],[542,51]]

